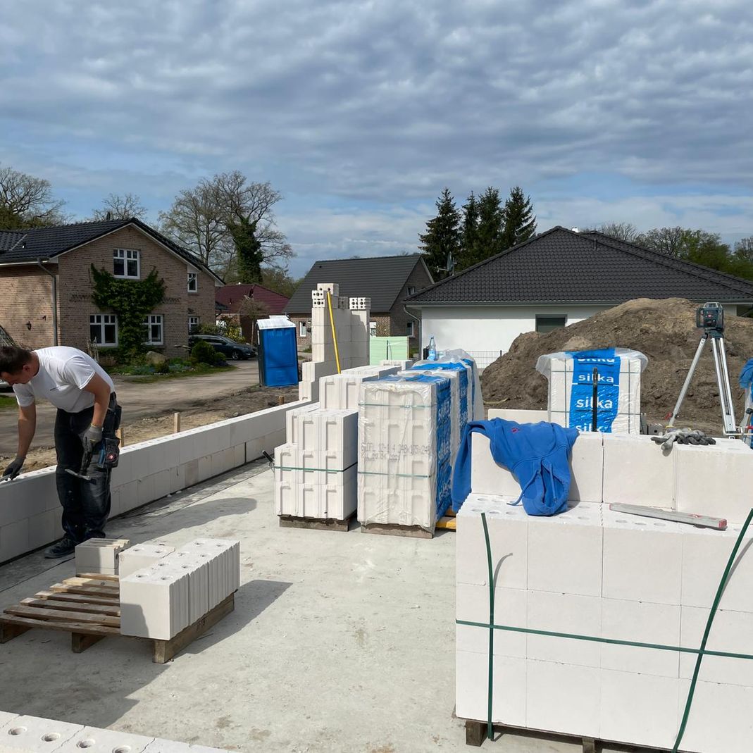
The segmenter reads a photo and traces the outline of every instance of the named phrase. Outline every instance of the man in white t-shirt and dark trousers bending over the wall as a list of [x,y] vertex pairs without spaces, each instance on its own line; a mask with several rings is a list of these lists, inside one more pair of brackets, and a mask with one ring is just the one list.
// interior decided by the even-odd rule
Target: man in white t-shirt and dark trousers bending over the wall
[[114,385],[90,355],[68,347],[0,346],[0,377],[13,387],[19,406],[18,453],[5,479],[14,479],[23,468],[36,430],[36,401],[44,398],[57,408],[55,480],[65,535],[44,556],[69,556],[81,541],[105,535],[111,468],[96,461],[103,438],[114,437],[120,423]]

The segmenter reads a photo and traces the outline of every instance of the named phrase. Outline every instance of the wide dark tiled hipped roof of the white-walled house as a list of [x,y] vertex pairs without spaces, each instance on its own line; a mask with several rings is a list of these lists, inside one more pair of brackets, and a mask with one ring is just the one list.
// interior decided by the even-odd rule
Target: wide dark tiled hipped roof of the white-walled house
[[753,282],[620,241],[553,227],[406,299],[460,303],[623,303],[633,298],[753,300]]

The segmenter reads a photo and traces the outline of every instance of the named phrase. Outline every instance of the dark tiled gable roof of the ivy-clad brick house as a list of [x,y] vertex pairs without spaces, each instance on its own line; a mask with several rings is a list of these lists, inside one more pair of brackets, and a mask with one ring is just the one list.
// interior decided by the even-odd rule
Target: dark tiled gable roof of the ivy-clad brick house
[[0,230],[0,266],[5,264],[34,264],[37,259],[54,260],[57,256],[72,251],[85,243],[133,225],[152,239],[166,246],[188,264],[212,275],[218,282],[222,279],[212,272],[203,261],[186,248],[172,242],[153,227],[136,217],[127,220],[102,220],[77,222],[52,227],[32,227],[28,230]]

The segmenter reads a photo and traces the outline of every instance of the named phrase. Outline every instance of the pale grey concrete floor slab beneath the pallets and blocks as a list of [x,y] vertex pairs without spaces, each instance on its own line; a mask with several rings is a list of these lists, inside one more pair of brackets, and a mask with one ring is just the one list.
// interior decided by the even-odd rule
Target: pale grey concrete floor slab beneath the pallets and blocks
[[[108,535],[239,539],[236,611],[163,666],[136,639],[73,654],[67,634],[29,631],[0,647],[3,711],[239,751],[469,750],[453,718],[453,532],[281,529],[273,474],[256,464],[113,520]],[[72,560],[40,553],[11,562],[0,606],[72,575]],[[520,735],[484,747],[581,750]]]

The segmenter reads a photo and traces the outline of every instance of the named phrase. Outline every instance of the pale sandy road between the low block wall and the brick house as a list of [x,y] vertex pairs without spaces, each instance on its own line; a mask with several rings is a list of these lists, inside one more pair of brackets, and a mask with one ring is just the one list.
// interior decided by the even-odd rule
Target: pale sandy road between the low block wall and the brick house
[[[166,380],[150,384],[140,383],[134,377],[114,377],[117,400],[123,406],[123,424],[160,416],[176,410],[200,407],[211,398],[232,395],[244,387],[259,383],[257,361],[239,361],[232,371],[209,374],[206,377]],[[3,392],[13,395],[12,392]],[[0,456],[14,455],[17,449],[17,413],[0,412]],[[37,405],[37,433],[32,447],[52,447],[55,408],[49,403]]]

